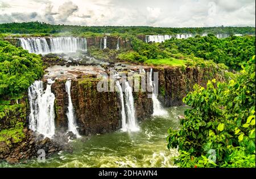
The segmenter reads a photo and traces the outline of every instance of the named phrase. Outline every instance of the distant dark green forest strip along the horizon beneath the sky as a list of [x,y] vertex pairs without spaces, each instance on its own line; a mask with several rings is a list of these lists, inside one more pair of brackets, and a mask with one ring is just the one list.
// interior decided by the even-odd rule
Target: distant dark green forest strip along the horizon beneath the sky
[[0,33],[63,33],[80,35],[84,32],[93,33],[129,33],[130,35],[158,35],[175,33],[223,33],[228,35],[249,34],[255,35],[255,27],[202,27],[202,28],[160,28],[160,27],[123,27],[123,26],[79,26],[79,25],[52,25],[41,22],[6,23],[0,24]]

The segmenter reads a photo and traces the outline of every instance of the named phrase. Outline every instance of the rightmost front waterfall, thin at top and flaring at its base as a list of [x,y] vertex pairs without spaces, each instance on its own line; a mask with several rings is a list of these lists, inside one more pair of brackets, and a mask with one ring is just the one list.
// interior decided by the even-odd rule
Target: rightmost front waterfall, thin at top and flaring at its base
[[150,86],[152,88],[152,101],[153,101],[153,116],[168,116],[168,112],[164,110],[160,104],[160,101],[157,98],[157,94],[154,92],[155,84],[152,81],[153,69],[150,69]]

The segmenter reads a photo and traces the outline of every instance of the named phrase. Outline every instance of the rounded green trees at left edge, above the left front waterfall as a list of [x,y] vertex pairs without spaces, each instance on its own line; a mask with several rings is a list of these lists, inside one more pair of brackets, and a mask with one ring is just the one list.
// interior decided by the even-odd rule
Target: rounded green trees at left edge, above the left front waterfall
[[0,41],[0,96],[19,96],[42,77],[40,56]]

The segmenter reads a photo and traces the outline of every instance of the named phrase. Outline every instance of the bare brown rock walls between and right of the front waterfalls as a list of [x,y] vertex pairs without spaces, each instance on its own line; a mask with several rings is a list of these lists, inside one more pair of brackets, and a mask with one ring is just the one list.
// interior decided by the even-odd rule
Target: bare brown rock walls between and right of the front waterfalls
[[[150,71],[147,68],[146,71]],[[155,67],[158,72],[158,99],[163,106],[183,105],[182,99],[193,90],[194,84],[206,86],[208,80],[221,78],[221,71],[213,68]],[[66,116],[68,95],[65,91],[65,79],[56,79],[52,84],[55,93],[56,127],[66,131],[68,119]],[[98,80],[92,75],[72,79],[71,97],[75,109],[76,123],[82,135],[109,133],[121,128],[121,101],[117,92],[98,92]],[[138,120],[150,116],[153,112],[152,99],[148,92],[133,92],[134,106]]]

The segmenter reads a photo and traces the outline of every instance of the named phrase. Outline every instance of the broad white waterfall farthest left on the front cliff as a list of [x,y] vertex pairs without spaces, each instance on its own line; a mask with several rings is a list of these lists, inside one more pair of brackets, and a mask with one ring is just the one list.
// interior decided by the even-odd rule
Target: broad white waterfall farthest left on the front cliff
[[51,92],[54,81],[48,79],[47,82],[45,91],[43,91],[42,81],[35,81],[28,88],[28,99],[30,101],[29,127],[45,137],[51,138],[55,134],[55,96]]

